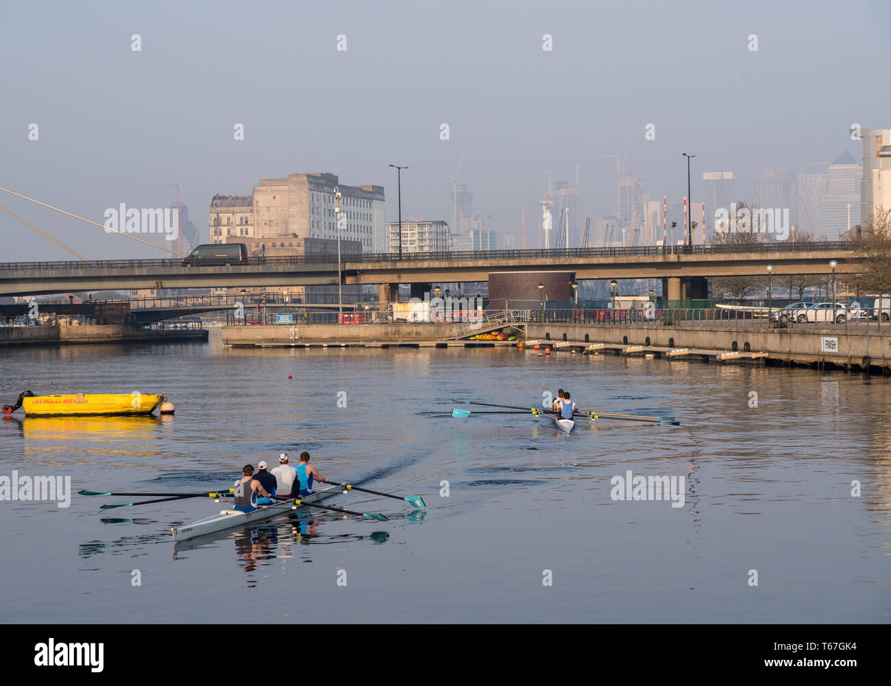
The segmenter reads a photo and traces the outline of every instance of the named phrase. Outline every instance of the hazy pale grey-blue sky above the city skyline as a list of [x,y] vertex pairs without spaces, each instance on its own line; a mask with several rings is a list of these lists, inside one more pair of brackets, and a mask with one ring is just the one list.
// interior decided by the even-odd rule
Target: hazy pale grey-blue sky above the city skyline
[[[648,190],[680,200],[681,153],[695,153],[694,202],[721,165],[744,198],[756,169],[859,160],[851,124],[891,126],[889,7],[0,0],[0,186],[102,222],[120,202],[166,206],[181,182],[207,241],[213,194],[293,172],[385,186],[395,220],[389,163],[411,168],[404,218],[448,219],[464,153],[459,180],[486,227],[519,233],[525,209],[534,247],[546,169],[574,180],[580,165],[580,209],[611,211],[615,161],[598,154],[627,154]],[[87,256],[163,256],[0,196]],[[0,261],[69,258],[5,214],[0,232]]]

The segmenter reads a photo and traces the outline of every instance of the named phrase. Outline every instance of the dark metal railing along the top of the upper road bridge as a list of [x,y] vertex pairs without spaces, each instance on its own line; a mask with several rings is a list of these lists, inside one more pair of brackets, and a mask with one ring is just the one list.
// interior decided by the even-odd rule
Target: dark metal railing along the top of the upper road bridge
[[[448,261],[448,260],[539,260],[546,258],[574,258],[574,257],[648,257],[658,255],[710,255],[732,253],[766,253],[766,252],[813,252],[831,251],[845,252],[851,250],[851,244],[846,241],[815,241],[809,243],[794,243],[790,241],[770,241],[766,243],[738,244],[738,245],[642,245],[636,247],[609,247],[609,248],[554,248],[543,250],[484,250],[484,251],[454,251],[454,252],[377,252],[365,254],[343,254],[342,263],[348,262],[405,262],[405,261]],[[45,269],[160,269],[174,268],[196,269],[183,267],[181,258],[160,260],[91,260],[88,262],[66,260],[45,262],[0,262],[0,271],[39,271]],[[233,266],[263,266],[263,265],[298,265],[298,264],[328,264],[336,265],[337,257],[333,255],[277,255],[270,257],[249,257]],[[215,265],[207,265],[208,267]],[[222,269],[231,269],[222,265],[216,265]]]

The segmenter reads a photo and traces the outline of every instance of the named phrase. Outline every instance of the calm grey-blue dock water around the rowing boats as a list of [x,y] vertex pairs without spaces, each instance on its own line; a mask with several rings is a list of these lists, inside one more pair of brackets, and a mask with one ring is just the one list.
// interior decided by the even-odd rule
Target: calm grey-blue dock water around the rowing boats
[[[3,501],[4,622],[217,622],[247,601],[258,621],[891,617],[889,379],[513,349],[225,350],[217,330],[205,345],[2,350],[0,365],[0,402],[31,389],[176,403],[170,419],[19,410],[0,419],[0,475],[190,492],[309,450],[323,475],[428,505],[417,519],[350,492],[329,502],[389,521],[292,513],[175,548],[171,526],[225,506]],[[566,436],[531,415],[449,416],[452,398],[531,407],[560,386],[581,409],[682,426],[579,422]],[[629,471],[683,477],[683,507],[613,500]]]

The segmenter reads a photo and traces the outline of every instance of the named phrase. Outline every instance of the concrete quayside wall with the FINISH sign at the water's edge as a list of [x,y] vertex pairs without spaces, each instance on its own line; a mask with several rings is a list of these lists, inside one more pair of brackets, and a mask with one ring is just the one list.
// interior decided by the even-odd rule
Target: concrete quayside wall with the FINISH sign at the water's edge
[[[704,323],[703,323],[704,324]],[[874,326],[874,325],[872,325]],[[505,326],[507,328],[508,326]],[[452,326],[439,323],[301,324],[223,326],[227,347],[494,347],[539,343],[558,351],[587,351],[601,344],[618,354],[652,354],[670,360],[709,360],[767,365],[891,370],[891,327],[869,325],[835,329],[825,325],[775,328],[699,326],[678,322],[649,324],[527,322],[513,324],[517,341],[455,339]],[[593,351],[593,350],[592,350]],[[735,353],[735,354],[728,354]]]

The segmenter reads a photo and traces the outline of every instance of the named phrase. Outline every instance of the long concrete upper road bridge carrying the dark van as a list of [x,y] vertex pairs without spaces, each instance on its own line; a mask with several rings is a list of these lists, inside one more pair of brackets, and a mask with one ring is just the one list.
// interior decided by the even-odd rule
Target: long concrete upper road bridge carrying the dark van
[[[344,284],[380,285],[380,302],[396,300],[399,284],[488,281],[492,272],[568,272],[576,279],[661,278],[670,300],[700,297],[710,277],[828,274],[830,260],[840,275],[855,268],[845,242],[772,242],[746,245],[570,248],[479,252],[419,252],[344,255]],[[330,255],[251,257],[241,263],[184,267],[181,260],[93,260],[0,263],[0,295],[64,293],[132,288],[262,288],[336,285],[338,262]]]

